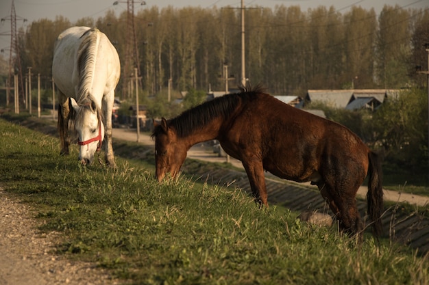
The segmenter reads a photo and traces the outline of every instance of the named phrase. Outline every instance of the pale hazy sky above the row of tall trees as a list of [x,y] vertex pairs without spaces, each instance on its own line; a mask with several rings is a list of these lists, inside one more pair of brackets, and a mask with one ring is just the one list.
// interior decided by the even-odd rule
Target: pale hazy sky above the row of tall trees
[[[16,27],[25,27],[32,21],[41,18],[55,20],[56,16],[61,15],[68,18],[71,23],[79,18],[103,17],[108,10],[113,10],[117,15],[127,10],[126,0],[14,0],[16,13]],[[183,8],[186,6],[199,6],[201,8],[222,8],[241,6],[241,0],[146,0],[145,5],[140,5],[142,1],[134,0],[134,12],[139,9],[158,6],[164,8],[171,5],[173,8]],[[319,6],[334,6],[334,8],[343,13],[347,12],[353,5],[365,9],[374,8],[377,14],[380,13],[384,5],[399,5],[402,8],[429,8],[428,0],[245,0],[246,7],[259,6],[274,9],[276,5],[299,5],[302,11],[308,8],[317,8]],[[5,21],[0,22],[0,49],[10,49],[10,13],[12,0],[0,0],[0,18]],[[24,20],[27,21],[24,21]],[[9,33],[9,35],[7,35]]]

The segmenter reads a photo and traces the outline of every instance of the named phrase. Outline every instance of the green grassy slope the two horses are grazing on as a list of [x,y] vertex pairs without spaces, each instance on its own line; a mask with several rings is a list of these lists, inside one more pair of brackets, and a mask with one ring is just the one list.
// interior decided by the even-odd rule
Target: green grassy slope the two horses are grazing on
[[[31,204],[56,251],[95,262],[127,284],[428,284],[429,262],[387,241],[363,243],[296,214],[259,210],[239,189],[117,157],[82,167],[77,148],[0,119],[0,186]],[[150,165],[149,158],[149,165]]]

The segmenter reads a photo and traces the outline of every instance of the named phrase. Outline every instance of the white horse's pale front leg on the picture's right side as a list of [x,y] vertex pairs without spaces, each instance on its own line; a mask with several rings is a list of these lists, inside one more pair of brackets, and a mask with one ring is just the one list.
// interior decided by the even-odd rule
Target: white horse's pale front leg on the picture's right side
[[106,151],[106,163],[110,167],[116,167],[114,162],[113,147],[112,147],[112,110],[114,103],[114,90],[103,97],[103,120],[104,120],[104,141]]

